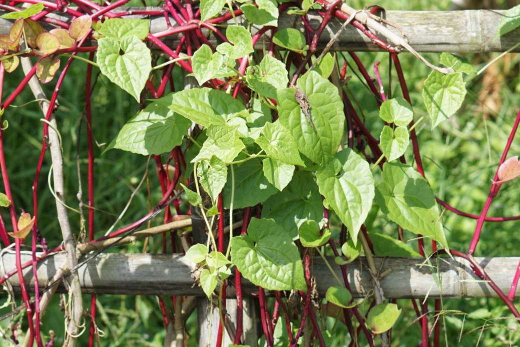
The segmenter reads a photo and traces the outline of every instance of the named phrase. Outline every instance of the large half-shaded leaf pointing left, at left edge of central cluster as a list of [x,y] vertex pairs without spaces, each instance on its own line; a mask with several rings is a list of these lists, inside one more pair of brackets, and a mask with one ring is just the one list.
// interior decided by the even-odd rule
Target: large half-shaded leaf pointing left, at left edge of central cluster
[[144,156],[170,152],[183,142],[191,122],[163,105],[152,102],[123,125],[105,152],[112,148]]

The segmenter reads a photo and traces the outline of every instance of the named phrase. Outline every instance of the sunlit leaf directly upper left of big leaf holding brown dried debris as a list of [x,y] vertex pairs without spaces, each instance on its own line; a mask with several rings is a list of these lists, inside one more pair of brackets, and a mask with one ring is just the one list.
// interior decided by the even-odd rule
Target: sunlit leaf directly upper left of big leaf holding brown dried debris
[[289,78],[282,61],[265,55],[259,65],[248,68],[246,81],[258,94],[276,100],[277,90],[287,87]]

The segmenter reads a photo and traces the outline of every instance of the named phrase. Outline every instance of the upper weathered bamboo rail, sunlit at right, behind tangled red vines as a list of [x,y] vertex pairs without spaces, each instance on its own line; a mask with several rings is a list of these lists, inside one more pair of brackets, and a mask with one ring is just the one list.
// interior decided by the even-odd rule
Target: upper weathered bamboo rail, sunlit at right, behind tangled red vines
[[[115,10],[128,10],[118,8]],[[130,10],[161,10],[159,7],[134,7]],[[502,10],[463,10],[463,11],[386,11],[383,18],[397,24],[408,38],[410,45],[418,52],[452,52],[478,53],[503,52],[520,42],[520,30],[512,31],[504,36],[497,35],[498,22],[504,11]],[[0,15],[5,13],[0,11]],[[70,17],[51,14],[50,17],[69,21]],[[143,16],[132,16],[144,18]],[[320,16],[309,15],[310,23],[317,27]],[[175,21],[171,20],[172,24]],[[12,20],[0,19],[0,34],[6,35]],[[279,28],[303,28],[301,16],[290,16],[284,12],[278,20]],[[320,37],[318,48],[323,48],[330,40],[341,22],[333,19]],[[151,18],[150,31],[157,33],[165,30],[166,22],[162,16]],[[399,33],[395,28],[388,29]],[[204,29],[205,31],[205,29]],[[206,32],[206,31],[205,31]],[[212,38],[213,35],[212,35]],[[167,40],[176,37],[170,36]],[[211,42],[212,40],[210,40]],[[215,43],[215,40],[213,40]],[[258,41],[256,48],[267,48],[268,42],[264,38]],[[381,50],[352,25],[348,25],[339,36],[332,50]],[[520,52],[517,47],[515,52]]]

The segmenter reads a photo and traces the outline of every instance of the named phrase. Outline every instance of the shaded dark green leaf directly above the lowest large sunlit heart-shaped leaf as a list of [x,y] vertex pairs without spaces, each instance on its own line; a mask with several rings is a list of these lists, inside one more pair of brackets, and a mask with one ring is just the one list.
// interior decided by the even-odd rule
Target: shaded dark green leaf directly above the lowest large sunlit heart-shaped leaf
[[262,218],[274,219],[292,239],[298,238],[303,222],[321,221],[323,205],[313,175],[295,171],[291,183],[264,202]]

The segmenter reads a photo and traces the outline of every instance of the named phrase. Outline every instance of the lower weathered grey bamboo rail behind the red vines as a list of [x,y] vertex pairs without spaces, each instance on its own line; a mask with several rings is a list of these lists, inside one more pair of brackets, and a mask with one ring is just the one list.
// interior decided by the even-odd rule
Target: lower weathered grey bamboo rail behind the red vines
[[[22,262],[29,261],[29,254],[22,254]],[[509,291],[511,273],[516,268],[520,258],[475,258],[482,265],[498,287]],[[4,271],[15,268],[15,255],[4,253],[0,264],[0,275]],[[333,260],[329,259],[333,264]],[[436,266],[436,260],[431,259]],[[50,280],[56,271],[64,266],[65,256],[58,253],[50,256],[38,265],[38,281],[41,286]],[[422,264],[422,265],[421,265]],[[439,259],[438,274],[442,282],[442,291],[435,283],[431,268],[424,264],[424,259],[409,258],[375,258],[375,265],[384,275],[380,279],[385,297],[423,298],[483,298],[495,297],[485,281],[479,280],[473,274],[469,264],[461,259]],[[191,271],[194,264],[185,262],[180,254],[100,254],[79,269],[83,292],[97,294],[131,294],[131,295],[204,295],[202,290],[194,285]],[[339,266],[333,265],[338,277],[341,278]],[[318,292],[324,295],[327,288],[337,285],[326,265],[320,258],[313,259],[313,275],[318,281]],[[434,270],[437,272],[436,270]],[[348,265],[348,280],[354,297],[363,297],[371,288],[372,280],[365,259],[356,260]],[[25,282],[34,286],[32,269],[24,271]],[[15,289],[18,287],[18,277],[9,279]],[[63,288],[60,288],[63,290]],[[244,280],[243,290],[251,294],[257,290],[250,282]],[[232,286],[228,287],[229,297],[235,296]]]

